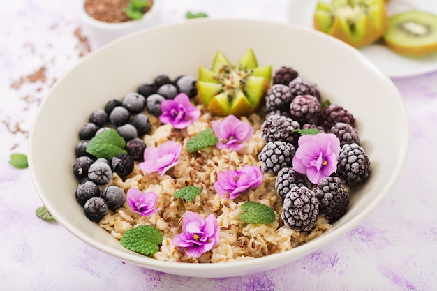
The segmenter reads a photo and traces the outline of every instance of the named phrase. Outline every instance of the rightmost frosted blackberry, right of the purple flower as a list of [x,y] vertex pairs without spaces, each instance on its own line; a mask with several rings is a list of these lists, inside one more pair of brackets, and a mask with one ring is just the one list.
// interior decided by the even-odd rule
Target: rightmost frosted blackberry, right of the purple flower
[[340,149],[337,174],[348,184],[361,184],[370,174],[370,161],[358,144],[344,144]]

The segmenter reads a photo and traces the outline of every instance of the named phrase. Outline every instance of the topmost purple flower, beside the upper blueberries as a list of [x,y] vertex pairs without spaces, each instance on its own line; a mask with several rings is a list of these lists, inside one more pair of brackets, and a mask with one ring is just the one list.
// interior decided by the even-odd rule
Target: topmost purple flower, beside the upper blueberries
[[178,129],[186,128],[200,117],[200,110],[191,105],[190,98],[185,93],[177,94],[173,100],[163,100],[161,112],[159,120]]

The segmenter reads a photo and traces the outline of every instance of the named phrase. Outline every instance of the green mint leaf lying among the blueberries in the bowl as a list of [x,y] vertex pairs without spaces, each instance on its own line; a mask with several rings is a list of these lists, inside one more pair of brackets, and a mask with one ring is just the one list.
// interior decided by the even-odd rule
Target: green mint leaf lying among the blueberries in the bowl
[[91,138],[86,151],[97,158],[111,160],[118,154],[127,154],[124,147],[126,147],[126,141],[117,133],[117,130],[108,129]]

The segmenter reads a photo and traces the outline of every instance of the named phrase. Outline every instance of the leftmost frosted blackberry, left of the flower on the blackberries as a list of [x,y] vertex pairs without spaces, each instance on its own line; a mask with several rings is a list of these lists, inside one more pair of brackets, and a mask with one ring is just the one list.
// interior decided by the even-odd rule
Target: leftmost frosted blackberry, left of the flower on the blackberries
[[296,148],[287,142],[267,142],[258,154],[262,172],[278,174],[283,167],[291,167]]

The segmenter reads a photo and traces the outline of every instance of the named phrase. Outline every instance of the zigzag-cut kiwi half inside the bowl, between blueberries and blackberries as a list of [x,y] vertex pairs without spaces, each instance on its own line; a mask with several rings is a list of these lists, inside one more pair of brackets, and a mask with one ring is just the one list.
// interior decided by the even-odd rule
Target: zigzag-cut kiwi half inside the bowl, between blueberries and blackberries
[[249,115],[258,110],[271,77],[272,66],[258,66],[251,49],[243,54],[235,66],[218,51],[211,70],[199,68],[198,94],[213,115]]

